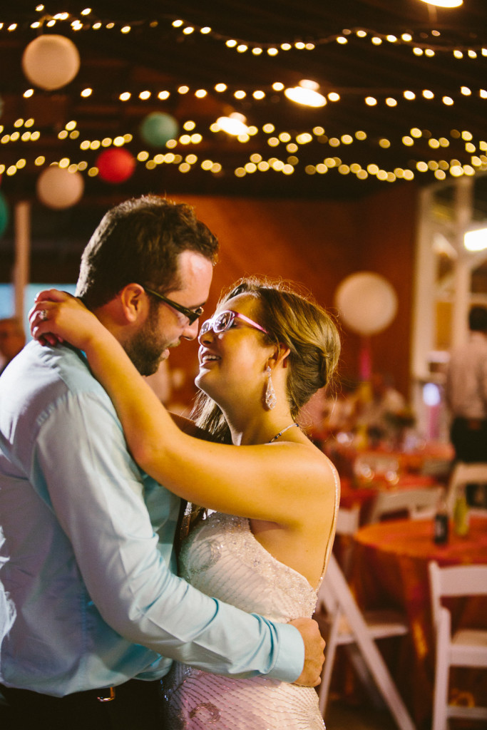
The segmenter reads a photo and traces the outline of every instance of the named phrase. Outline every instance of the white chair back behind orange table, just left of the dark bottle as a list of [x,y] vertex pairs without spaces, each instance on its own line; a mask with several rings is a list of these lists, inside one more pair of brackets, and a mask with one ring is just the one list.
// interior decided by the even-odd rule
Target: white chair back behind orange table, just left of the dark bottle
[[388,515],[407,512],[409,517],[432,517],[436,510],[442,487],[419,487],[379,492],[369,514],[369,523],[379,522]]

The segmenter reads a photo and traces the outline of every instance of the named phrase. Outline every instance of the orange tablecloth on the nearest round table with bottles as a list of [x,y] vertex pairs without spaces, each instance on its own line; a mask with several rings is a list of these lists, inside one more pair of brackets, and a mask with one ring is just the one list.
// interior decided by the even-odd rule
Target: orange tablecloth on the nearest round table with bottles
[[[429,727],[434,677],[434,638],[429,602],[428,563],[440,565],[487,563],[487,519],[472,518],[467,537],[452,534],[447,545],[433,542],[432,520],[392,520],[361,528],[355,537],[350,582],[362,608],[394,606],[407,612],[413,651],[396,677],[410,704],[418,728]],[[453,626],[487,628],[487,600],[456,599]],[[461,673],[463,672],[463,673]],[[484,673],[485,675],[485,673]],[[463,698],[482,704],[483,675],[456,670],[450,687]],[[461,701],[461,698],[460,700]]]

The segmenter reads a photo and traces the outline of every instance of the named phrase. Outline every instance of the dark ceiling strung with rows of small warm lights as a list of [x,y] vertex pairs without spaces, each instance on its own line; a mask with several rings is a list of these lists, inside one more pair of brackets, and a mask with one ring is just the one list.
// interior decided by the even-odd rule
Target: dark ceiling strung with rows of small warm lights
[[[464,0],[457,9],[421,0],[92,0],[86,15],[88,0],[46,0],[44,10],[35,1],[1,5],[0,136],[22,134],[28,119],[40,133],[37,141],[2,139],[1,191],[7,198],[35,198],[43,167],[62,158],[86,166],[85,201],[148,191],[353,199],[391,184],[431,184],[461,169],[481,177],[487,170],[485,0]],[[69,18],[48,26],[58,12]],[[183,23],[176,28],[178,19]],[[31,27],[36,20],[43,33],[74,41],[81,66],[64,88],[34,88],[26,99],[31,84],[21,58],[41,32]],[[74,31],[73,20],[83,28]],[[124,26],[130,31],[122,32]],[[231,40],[247,50],[229,47]],[[271,48],[277,55],[269,54]],[[328,99],[324,107],[304,107],[272,88],[303,79],[318,83]],[[218,83],[226,91],[215,91]],[[93,90],[87,98],[81,96],[85,88]],[[206,95],[196,96],[199,90]],[[169,92],[167,99],[158,98],[161,91]],[[405,99],[405,91],[415,98]],[[120,101],[124,92],[129,101]],[[149,98],[139,98],[142,92]],[[333,93],[338,101],[331,101]],[[369,106],[367,97],[377,103]],[[453,103],[445,104],[447,97]],[[177,120],[175,147],[142,140],[139,127],[150,112]],[[230,112],[245,115],[255,128],[247,142],[210,131]],[[60,139],[72,121],[79,135]],[[187,122],[194,123],[191,130]],[[131,135],[126,149],[135,158],[145,152],[147,159],[137,161],[125,183],[90,177],[101,148],[83,150],[81,143],[125,134]],[[192,134],[201,139],[191,141]],[[36,165],[41,155],[45,163]],[[202,168],[205,161],[212,170]],[[269,169],[259,169],[259,162]],[[12,166],[17,172],[7,174]],[[404,179],[411,176],[413,182]]]

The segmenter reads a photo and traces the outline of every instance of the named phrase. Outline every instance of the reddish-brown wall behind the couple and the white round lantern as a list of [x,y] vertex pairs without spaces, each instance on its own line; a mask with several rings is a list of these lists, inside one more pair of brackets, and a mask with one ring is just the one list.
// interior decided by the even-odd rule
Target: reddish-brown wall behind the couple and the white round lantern
[[[343,278],[358,271],[377,272],[396,289],[394,322],[372,337],[374,369],[391,374],[409,394],[410,323],[413,289],[415,200],[413,186],[395,186],[360,201],[255,200],[184,196],[220,239],[211,312],[218,293],[245,274],[283,277],[304,285],[333,310]],[[360,338],[342,331],[344,377],[358,377]],[[187,368],[196,345],[171,355],[172,366]]]

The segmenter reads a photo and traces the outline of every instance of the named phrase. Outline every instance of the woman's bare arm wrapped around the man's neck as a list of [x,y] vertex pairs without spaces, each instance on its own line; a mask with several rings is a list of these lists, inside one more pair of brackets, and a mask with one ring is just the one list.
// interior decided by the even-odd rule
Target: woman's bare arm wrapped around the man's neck
[[[236,447],[184,434],[95,315],[64,292],[39,296],[31,310],[34,337],[51,333],[85,351],[115,404],[132,456],[166,488],[212,510],[288,526],[309,518],[313,501],[328,503],[331,469],[313,447],[289,442]],[[47,321],[39,319],[40,310],[47,310]]]

